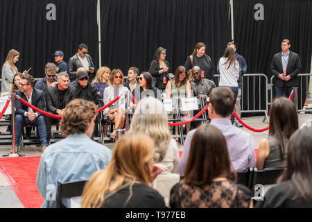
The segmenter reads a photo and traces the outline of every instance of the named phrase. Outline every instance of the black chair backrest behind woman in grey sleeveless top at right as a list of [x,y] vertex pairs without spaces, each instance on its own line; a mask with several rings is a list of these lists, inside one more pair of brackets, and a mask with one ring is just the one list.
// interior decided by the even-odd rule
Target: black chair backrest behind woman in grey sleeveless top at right
[[254,168],[254,176],[252,179],[252,187],[257,184],[260,185],[272,185],[276,183],[276,180],[281,173],[284,172],[284,168],[276,168],[276,169],[264,169],[258,171],[257,168]]

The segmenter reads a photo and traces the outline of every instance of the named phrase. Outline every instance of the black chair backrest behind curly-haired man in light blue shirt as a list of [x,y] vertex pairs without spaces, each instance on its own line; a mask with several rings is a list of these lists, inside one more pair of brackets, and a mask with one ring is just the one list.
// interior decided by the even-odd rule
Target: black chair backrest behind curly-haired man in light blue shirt
[[61,203],[61,198],[73,198],[81,196],[87,180],[80,180],[75,182],[64,182],[58,180],[58,196],[56,198],[56,207],[64,208]]

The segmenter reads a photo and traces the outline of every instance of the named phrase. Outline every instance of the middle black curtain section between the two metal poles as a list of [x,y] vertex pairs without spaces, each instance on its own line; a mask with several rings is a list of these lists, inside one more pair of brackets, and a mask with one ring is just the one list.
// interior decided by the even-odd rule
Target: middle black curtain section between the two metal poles
[[228,0],[101,0],[102,65],[148,71],[162,46],[174,73],[204,42],[216,66],[231,38],[228,12]]

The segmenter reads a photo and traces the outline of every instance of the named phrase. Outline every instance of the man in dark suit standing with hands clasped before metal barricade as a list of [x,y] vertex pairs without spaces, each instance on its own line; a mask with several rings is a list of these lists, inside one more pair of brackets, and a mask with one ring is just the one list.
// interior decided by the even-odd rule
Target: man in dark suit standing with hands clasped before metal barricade
[[297,53],[290,51],[291,42],[283,40],[281,42],[281,52],[276,53],[272,59],[271,70],[276,77],[275,94],[276,97],[290,96],[294,87],[299,87],[297,74],[301,71],[301,61]]

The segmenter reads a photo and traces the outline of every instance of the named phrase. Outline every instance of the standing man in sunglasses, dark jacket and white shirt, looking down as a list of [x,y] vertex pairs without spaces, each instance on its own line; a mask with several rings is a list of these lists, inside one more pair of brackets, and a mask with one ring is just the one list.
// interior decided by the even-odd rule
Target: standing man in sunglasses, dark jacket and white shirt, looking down
[[68,61],[67,73],[71,81],[76,80],[77,69],[80,67],[85,69],[91,82],[95,74],[94,64],[91,56],[88,55],[88,46],[83,43],[78,46],[78,52]]

